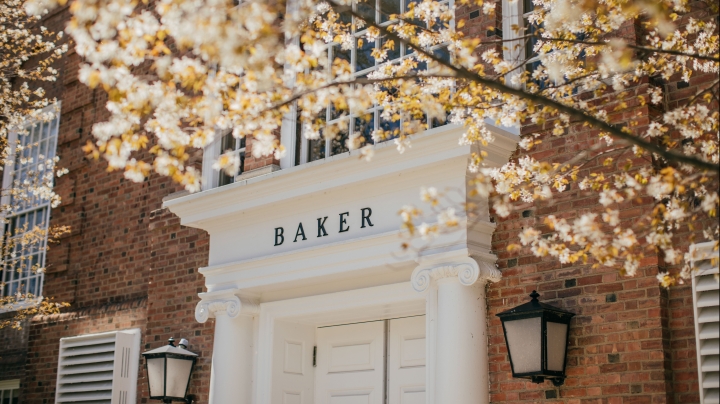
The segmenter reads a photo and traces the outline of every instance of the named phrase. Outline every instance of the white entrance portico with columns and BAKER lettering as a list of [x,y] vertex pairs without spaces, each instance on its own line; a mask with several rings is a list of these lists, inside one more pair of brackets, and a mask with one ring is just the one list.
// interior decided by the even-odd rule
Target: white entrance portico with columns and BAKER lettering
[[[404,253],[398,218],[421,186],[465,195],[470,146],[433,129],[165,202],[210,234],[212,404],[488,402],[485,285],[500,279],[481,218]],[[515,136],[496,130],[486,162]]]

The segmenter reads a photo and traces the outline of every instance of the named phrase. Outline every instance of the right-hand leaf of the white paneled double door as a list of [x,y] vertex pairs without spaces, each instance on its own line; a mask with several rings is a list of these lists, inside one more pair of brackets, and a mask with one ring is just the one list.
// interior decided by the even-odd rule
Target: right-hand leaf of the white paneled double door
[[388,404],[425,404],[425,316],[388,321]]

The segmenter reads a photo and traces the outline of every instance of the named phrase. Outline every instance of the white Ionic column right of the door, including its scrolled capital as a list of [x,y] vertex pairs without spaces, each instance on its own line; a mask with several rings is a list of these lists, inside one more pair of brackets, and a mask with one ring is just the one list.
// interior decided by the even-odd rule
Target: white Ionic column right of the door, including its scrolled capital
[[[428,306],[437,302],[428,341],[428,401],[434,404],[489,402],[485,283],[500,279],[494,265],[472,259],[420,266],[412,275],[418,292],[430,289]],[[479,280],[479,282],[478,282]],[[428,307],[430,312],[431,307]],[[429,327],[431,328],[431,327]],[[434,341],[432,341],[434,340]]]

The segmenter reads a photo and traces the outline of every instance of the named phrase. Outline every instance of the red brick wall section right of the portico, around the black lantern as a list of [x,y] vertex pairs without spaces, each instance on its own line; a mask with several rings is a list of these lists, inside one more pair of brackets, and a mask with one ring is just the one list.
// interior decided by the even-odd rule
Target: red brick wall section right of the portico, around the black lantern
[[[707,16],[694,5],[684,16],[696,19]],[[678,23],[683,24],[682,20]],[[638,27],[626,26],[622,35],[628,39],[642,38]],[[642,130],[652,117],[666,108],[678,106],[678,101],[694,95],[698,86],[716,77],[698,75],[688,83],[674,77],[669,83],[653,81],[667,92],[667,104],[660,107],[641,107],[637,96],[646,94],[649,82],[643,80],[629,89],[625,100],[628,107],[617,112],[612,108],[620,102],[617,94],[588,100],[608,110],[613,123],[637,123]],[[713,108],[717,109],[717,105]],[[543,133],[551,126],[526,126],[523,133]],[[598,143],[597,131],[574,125],[566,135],[544,135],[543,143],[527,153],[536,159],[561,162]],[[526,152],[518,150],[515,158]],[[631,154],[635,167],[649,162]],[[589,171],[606,176],[619,172],[619,166],[603,167],[600,159],[584,166],[581,177]],[[628,224],[654,206],[647,196],[619,205],[621,220]],[[645,258],[635,277],[622,277],[616,269],[592,268],[591,265],[561,265],[551,259],[540,259],[528,249],[507,252],[511,243],[519,244],[517,234],[525,226],[543,226],[547,215],[568,221],[587,212],[602,212],[597,196],[571,188],[555,194],[551,203],[518,205],[510,217],[496,219],[493,250],[499,257],[498,266],[503,279],[489,286],[489,354],[492,402],[558,402],[558,403],[697,403],[698,374],[695,351],[695,329],[692,310],[692,291],[687,284],[671,290],[658,286],[658,271],[677,270],[669,266],[653,249],[646,249]],[[707,218],[699,218],[699,221]],[[699,227],[676,230],[676,246],[683,251],[693,241],[703,239]],[[643,240],[641,239],[641,242]],[[559,388],[551,383],[533,384],[513,379],[507,358],[502,327],[495,314],[529,300],[527,295],[537,289],[541,300],[576,313],[571,324],[568,351],[568,379]]]

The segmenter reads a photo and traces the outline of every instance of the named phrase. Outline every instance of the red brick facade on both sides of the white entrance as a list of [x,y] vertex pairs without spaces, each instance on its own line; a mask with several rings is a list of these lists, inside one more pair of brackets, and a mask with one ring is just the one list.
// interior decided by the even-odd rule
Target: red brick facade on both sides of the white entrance
[[[458,19],[467,20],[468,34],[496,39],[487,35],[493,33],[491,28],[501,28],[499,4],[495,16],[475,16],[475,11],[476,6],[458,10]],[[67,12],[61,10],[48,17],[48,25],[58,30],[66,18]],[[633,27],[627,29],[627,36],[635,37]],[[91,139],[92,124],[107,117],[106,98],[102,91],[90,91],[77,81],[78,63],[76,54],[68,54],[62,62],[61,80],[49,89],[63,100],[58,154],[61,166],[70,170],[57,181],[63,204],[53,210],[52,223],[70,225],[73,231],[48,255],[45,295],[73,306],[70,314],[35,319],[25,333],[2,332],[0,380],[22,377],[22,346],[28,335],[23,402],[52,402],[60,338],[139,327],[142,351],[164,344],[171,336],[190,340],[190,350],[200,355],[190,394],[198,402],[207,402],[214,323],[197,323],[194,309],[197,293],[203,291],[197,268],[207,265],[208,236],[180,226],[176,217],[161,209],[162,198],[178,190],[167,179],[129,183],[121,173],[108,174],[103,162],[85,159],[80,147]],[[707,79],[693,78],[690,86]],[[671,106],[692,93],[678,88],[677,81],[668,84]],[[631,92],[629,109],[613,117],[615,121],[627,121],[639,113],[640,126],[647,124],[651,111],[633,104],[633,97],[645,92],[647,85],[640,83],[635,93]],[[612,96],[597,102],[608,103]],[[577,125],[566,136],[548,139],[533,154],[566,158],[597,141],[595,131]],[[250,157],[251,140],[247,150],[246,170],[277,164],[272,157]],[[616,159],[621,160],[624,158]],[[587,168],[600,165],[595,161]],[[612,173],[617,168],[603,170]],[[633,220],[652,203],[647,198],[627,202],[621,206],[621,217]],[[552,204],[522,207],[498,220],[493,250],[503,279],[491,285],[488,293],[492,402],[697,402],[691,294],[687,286],[670,292],[658,286],[655,274],[661,263],[653,252],[648,252],[650,258],[643,262],[638,276],[623,278],[614,269],[560,265],[535,258],[527,250],[506,251],[509,243],[517,243],[523,226],[537,226],[548,214],[571,220],[599,209],[596,197],[573,188],[557,195]],[[527,217],[524,211],[528,211]],[[541,293],[543,301],[577,314],[571,325],[569,378],[560,388],[510,375],[502,330],[494,315],[526,301],[533,289]],[[15,348],[6,349],[10,346]],[[139,376],[138,401],[147,402],[143,368]]]

